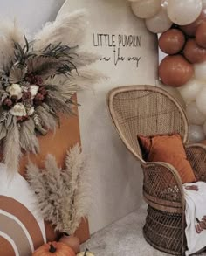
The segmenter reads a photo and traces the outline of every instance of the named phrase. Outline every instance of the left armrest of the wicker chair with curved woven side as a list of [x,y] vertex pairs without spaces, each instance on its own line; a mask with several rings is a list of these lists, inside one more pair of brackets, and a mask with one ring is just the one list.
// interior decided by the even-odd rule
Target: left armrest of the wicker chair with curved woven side
[[162,211],[175,212],[176,209],[176,212],[182,212],[185,200],[177,170],[163,162],[149,162],[141,166],[144,170],[144,197],[148,204],[155,204],[155,208]]

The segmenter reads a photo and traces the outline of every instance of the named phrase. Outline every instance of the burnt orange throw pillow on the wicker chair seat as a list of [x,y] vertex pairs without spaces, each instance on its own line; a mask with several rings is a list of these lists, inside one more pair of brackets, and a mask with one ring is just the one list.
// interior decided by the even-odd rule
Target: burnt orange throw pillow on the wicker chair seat
[[145,161],[170,163],[178,171],[182,183],[196,182],[180,135],[138,135],[138,141]]

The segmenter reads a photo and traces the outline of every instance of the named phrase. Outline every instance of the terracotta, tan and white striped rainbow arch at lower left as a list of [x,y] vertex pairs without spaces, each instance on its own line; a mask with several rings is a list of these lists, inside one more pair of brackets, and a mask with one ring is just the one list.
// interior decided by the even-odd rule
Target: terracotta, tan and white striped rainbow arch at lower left
[[44,244],[43,234],[24,204],[0,196],[0,255],[28,256]]

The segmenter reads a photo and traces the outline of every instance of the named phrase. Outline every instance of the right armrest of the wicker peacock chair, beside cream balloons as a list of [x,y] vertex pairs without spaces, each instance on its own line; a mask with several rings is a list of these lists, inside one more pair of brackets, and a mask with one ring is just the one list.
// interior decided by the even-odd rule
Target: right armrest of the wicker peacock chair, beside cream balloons
[[206,182],[206,145],[189,143],[185,145],[185,150],[196,179]]

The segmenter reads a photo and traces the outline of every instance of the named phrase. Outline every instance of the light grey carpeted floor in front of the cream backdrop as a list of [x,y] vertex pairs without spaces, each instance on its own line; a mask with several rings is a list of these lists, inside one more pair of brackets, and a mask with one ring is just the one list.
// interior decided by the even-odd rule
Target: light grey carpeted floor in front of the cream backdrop
[[[146,205],[92,235],[82,251],[89,248],[95,256],[168,256],[155,250],[143,238],[142,227],[146,217]],[[198,254],[205,256],[205,253]]]

